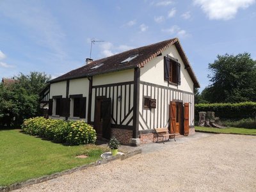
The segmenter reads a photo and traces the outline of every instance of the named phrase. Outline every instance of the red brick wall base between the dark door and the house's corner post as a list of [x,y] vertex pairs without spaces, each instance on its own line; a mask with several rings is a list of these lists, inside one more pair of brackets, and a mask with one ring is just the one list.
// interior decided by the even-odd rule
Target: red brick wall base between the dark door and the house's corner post
[[129,144],[132,138],[132,130],[112,128],[111,136],[122,144]]

